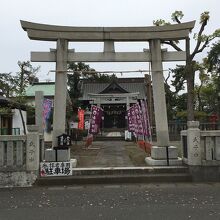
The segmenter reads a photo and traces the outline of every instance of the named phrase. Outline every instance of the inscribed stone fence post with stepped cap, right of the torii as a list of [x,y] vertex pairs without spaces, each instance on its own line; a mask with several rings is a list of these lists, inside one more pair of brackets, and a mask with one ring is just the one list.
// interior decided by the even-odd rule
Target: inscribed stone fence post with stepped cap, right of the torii
[[188,165],[201,165],[201,144],[200,144],[200,129],[198,121],[187,122],[187,154]]

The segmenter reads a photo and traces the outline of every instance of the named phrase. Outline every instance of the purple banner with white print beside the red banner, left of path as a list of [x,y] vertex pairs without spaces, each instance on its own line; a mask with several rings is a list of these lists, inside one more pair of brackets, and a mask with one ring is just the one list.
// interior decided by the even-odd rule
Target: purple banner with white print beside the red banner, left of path
[[89,133],[90,134],[97,134],[99,132],[100,124],[102,121],[102,114],[103,111],[100,107],[92,106],[91,109],[91,118],[90,118],[90,127],[89,127]]

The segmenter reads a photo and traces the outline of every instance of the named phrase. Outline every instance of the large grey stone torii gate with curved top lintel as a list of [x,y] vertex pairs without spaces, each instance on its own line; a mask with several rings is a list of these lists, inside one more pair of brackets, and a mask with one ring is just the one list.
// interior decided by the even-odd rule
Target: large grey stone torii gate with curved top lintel
[[[162,62],[185,61],[186,52],[161,50],[161,41],[188,40],[195,21],[152,27],[67,27],[21,21],[32,40],[56,41],[56,50],[31,52],[32,62],[56,62],[53,146],[65,132],[67,62],[151,62],[158,146],[169,145]],[[115,52],[114,42],[148,41],[150,50]],[[103,52],[75,52],[68,42],[104,42]],[[187,41],[188,42],[188,41]],[[187,45],[187,44],[186,44]]]

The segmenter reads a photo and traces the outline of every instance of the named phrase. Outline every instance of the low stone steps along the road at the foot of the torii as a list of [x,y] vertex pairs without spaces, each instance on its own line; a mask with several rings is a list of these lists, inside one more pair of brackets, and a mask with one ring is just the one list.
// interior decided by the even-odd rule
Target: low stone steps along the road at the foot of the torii
[[192,182],[185,166],[74,168],[72,176],[41,177],[37,186]]

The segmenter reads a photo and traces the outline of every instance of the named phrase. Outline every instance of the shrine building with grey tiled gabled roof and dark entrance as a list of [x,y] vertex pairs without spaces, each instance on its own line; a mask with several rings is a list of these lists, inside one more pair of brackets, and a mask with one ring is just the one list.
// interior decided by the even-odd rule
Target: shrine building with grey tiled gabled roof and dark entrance
[[138,100],[146,99],[145,78],[116,78],[110,83],[84,80],[81,91],[84,105],[97,105],[104,110],[102,129],[125,129],[126,110]]

